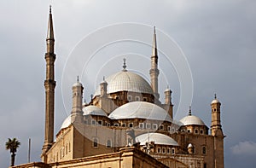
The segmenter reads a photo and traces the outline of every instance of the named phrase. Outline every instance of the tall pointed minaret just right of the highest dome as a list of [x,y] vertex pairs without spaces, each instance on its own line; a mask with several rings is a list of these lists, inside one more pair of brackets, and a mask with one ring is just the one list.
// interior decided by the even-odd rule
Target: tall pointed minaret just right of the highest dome
[[154,35],[153,35],[153,46],[152,46],[152,55],[151,55],[151,69],[149,71],[151,78],[151,87],[154,91],[154,101],[159,101],[159,93],[158,93],[158,55],[157,55],[157,47],[156,47],[156,34],[155,34],[155,26],[154,26]]

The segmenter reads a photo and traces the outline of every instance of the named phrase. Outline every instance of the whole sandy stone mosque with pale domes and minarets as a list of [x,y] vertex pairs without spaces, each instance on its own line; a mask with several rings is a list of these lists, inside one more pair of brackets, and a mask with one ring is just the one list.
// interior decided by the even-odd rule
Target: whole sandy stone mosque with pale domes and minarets
[[[14,167],[172,167],[223,168],[224,133],[221,103],[216,96],[208,127],[189,108],[173,119],[172,90],[160,102],[160,71],[156,32],[153,33],[150,84],[124,65],[103,78],[90,102],[83,102],[83,84],[72,86],[73,107],[54,135],[55,38],[49,10],[45,88],[45,135],[41,162]],[[149,63],[149,62],[148,62]],[[209,130],[210,129],[210,130]]]

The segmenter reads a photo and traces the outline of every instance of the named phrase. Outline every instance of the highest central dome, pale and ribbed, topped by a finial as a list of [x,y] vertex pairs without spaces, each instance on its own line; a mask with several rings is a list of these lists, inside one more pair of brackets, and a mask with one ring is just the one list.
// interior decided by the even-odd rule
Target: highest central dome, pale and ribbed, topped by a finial
[[[140,75],[129,72],[117,72],[105,79],[108,83],[107,93],[115,93],[118,91],[132,91],[137,93],[153,94],[153,90],[148,82]],[[101,95],[100,86],[97,88],[94,96]]]

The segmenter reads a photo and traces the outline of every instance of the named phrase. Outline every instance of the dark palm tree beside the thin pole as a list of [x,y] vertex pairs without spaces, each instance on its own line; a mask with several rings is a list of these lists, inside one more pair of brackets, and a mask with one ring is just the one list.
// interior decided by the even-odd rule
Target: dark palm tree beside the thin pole
[[9,150],[11,153],[11,166],[15,165],[15,153],[17,152],[17,148],[20,147],[20,142],[16,139],[8,138],[8,142],[5,142],[6,150]]

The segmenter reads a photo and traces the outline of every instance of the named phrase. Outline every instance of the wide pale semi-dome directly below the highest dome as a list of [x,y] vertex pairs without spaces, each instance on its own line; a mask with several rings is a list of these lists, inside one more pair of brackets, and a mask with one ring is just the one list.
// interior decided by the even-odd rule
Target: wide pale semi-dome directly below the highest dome
[[110,119],[154,119],[172,122],[170,115],[163,108],[146,101],[132,101],[115,109]]

